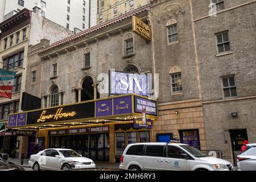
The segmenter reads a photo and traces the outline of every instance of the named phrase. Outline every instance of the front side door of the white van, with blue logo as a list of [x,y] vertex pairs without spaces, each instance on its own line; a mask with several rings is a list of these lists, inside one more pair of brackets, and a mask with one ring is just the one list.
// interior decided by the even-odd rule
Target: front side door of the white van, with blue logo
[[189,171],[189,159],[183,159],[181,154],[187,154],[177,146],[167,146],[167,158],[164,160],[164,169],[174,171]]

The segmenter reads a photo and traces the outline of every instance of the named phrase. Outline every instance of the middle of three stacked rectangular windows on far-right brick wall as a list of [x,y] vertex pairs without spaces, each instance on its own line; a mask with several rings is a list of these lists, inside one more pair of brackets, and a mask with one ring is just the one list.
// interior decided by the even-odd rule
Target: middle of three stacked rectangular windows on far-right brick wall
[[218,53],[231,51],[228,31],[216,34],[216,39]]

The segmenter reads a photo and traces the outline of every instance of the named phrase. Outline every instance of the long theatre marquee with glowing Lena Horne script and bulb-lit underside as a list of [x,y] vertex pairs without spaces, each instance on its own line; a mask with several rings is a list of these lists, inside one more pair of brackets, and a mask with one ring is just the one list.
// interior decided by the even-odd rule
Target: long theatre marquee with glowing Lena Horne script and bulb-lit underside
[[156,100],[126,94],[10,114],[8,128],[36,130],[127,123],[142,119],[143,109],[147,119],[154,121],[158,117]]

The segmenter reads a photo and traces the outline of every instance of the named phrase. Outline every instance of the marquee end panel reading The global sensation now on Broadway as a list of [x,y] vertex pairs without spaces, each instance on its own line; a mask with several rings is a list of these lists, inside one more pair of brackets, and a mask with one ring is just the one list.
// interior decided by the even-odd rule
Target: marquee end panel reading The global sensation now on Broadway
[[158,115],[156,101],[134,96],[135,113],[142,113],[142,109],[144,108],[146,109],[146,114]]

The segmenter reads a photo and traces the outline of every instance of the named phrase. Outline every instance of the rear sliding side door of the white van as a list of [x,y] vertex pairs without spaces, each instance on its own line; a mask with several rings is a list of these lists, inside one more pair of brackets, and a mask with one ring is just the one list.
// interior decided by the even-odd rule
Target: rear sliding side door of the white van
[[144,170],[164,170],[164,159],[164,145],[147,144],[141,164]]

